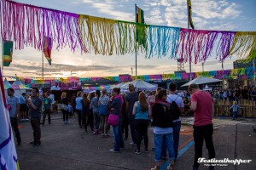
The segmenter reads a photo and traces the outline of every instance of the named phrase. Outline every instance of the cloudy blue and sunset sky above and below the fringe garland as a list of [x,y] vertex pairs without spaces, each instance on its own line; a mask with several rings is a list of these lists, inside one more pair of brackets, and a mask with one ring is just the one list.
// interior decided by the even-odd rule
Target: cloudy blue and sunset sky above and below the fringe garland
[[[187,0],[15,0],[45,8],[55,8],[76,14],[89,14],[114,20],[135,20],[135,3],[144,10],[145,22],[151,25],[187,27]],[[255,0],[191,0],[195,29],[225,31],[256,31]],[[54,47],[55,48],[55,47]],[[162,58],[145,59],[137,56],[137,75],[172,73],[177,61]],[[224,62],[224,69],[233,67],[232,59]],[[34,48],[14,50],[13,62],[4,67],[5,76],[40,77],[42,53]],[[119,74],[135,75],[135,54],[103,56],[75,53],[70,48],[53,49],[52,65],[44,59],[45,77],[107,77]],[[205,64],[205,71],[220,70],[214,53]],[[189,64],[185,64],[189,71]],[[201,71],[201,64],[192,65],[192,71]]]

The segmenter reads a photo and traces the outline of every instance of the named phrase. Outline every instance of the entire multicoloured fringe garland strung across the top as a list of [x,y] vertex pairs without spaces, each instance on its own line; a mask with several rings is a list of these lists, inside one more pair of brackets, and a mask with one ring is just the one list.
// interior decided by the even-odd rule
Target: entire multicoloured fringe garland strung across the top
[[57,49],[95,54],[131,54],[141,52],[150,59],[169,55],[171,59],[197,64],[205,62],[216,50],[223,61],[237,54],[241,59],[256,58],[256,32],[204,31],[169,26],[150,26],[123,20],[110,20],[84,14],[72,14],[40,8],[10,0],[0,0],[1,35],[15,41],[15,48],[31,45],[42,50],[43,38],[50,37]]

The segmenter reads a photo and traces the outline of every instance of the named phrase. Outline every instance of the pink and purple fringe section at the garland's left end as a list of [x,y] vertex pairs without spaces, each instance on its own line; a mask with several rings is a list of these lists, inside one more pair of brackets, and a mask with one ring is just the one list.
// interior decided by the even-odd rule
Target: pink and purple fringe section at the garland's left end
[[79,15],[55,9],[15,3],[9,0],[0,1],[1,35],[4,40],[14,40],[15,48],[32,46],[42,50],[44,36],[51,37],[57,49],[69,47],[84,48],[79,37]]

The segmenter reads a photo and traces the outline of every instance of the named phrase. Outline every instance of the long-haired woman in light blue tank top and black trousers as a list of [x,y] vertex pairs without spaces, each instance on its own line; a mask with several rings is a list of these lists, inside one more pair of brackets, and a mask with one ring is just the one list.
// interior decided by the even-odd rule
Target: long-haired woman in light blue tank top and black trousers
[[151,106],[148,104],[145,93],[139,94],[138,101],[133,106],[132,115],[135,115],[137,132],[137,150],[135,153],[141,154],[142,140],[144,140],[144,152],[148,152],[148,116],[151,116]]

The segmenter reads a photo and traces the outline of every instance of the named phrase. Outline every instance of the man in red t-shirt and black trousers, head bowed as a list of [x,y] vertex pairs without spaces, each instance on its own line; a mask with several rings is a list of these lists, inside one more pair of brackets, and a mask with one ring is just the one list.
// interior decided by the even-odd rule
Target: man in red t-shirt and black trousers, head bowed
[[[194,111],[194,141],[195,141],[195,160],[193,170],[198,170],[200,164],[198,158],[202,156],[202,146],[205,140],[208,150],[209,160],[215,158],[215,149],[212,142],[212,117],[214,115],[214,105],[211,94],[201,91],[197,84],[189,85],[191,95],[191,110]],[[213,170],[214,167],[208,167]]]

